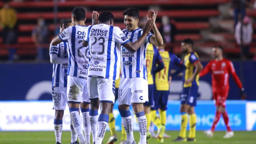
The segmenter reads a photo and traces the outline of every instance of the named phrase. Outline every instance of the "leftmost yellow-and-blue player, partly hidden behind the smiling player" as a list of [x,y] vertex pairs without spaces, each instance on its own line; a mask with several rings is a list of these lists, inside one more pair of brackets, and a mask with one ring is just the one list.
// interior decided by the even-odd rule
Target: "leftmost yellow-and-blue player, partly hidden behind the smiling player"
[[[158,66],[156,66],[158,64]],[[147,140],[151,137],[149,126],[151,122],[150,107],[154,102],[154,75],[164,68],[164,62],[158,49],[149,43],[146,47],[146,69],[148,74],[148,97],[149,101],[144,103],[144,112],[147,119]]]

